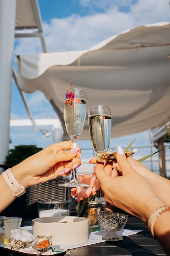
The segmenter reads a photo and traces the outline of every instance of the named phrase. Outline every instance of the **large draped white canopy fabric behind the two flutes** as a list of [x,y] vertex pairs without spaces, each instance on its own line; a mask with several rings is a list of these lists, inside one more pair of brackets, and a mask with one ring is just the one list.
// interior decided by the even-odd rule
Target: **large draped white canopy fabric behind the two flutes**
[[[88,107],[108,105],[112,137],[162,126],[170,120],[170,22],[145,25],[110,37],[91,49],[18,56],[18,85],[40,90],[51,102],[68,139],[64,91],[82,88]],[[88,119],[80,139],[90,139]]]

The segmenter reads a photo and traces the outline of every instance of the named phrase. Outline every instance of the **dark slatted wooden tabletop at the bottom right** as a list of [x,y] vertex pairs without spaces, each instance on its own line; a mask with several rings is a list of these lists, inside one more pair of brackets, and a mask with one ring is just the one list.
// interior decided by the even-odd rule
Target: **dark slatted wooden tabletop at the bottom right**
[[[23,222],[30,225],[29,222]],[[146,223],[135,217],[129,217],[126,229],[142,229],[143,231],[132,236],[124,237],[117,242],[103,242],[75,249],[69,249],[70,256],[136,256],[136,255],[166,255],[161,245],[152,238]],[[73,231],[74,236],[74,231]],[[68,254],[66,254],[68,255]]]

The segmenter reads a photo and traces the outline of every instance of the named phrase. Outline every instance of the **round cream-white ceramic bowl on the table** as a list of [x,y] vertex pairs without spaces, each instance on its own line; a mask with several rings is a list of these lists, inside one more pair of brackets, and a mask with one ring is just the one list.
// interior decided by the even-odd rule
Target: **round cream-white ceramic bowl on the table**
[[[64,221],[66,223],[61,223]],[[79,245],[88,241],[88,218],[44,217],[33,219],[32,222],[33,235],[52,236],[53,245]]]

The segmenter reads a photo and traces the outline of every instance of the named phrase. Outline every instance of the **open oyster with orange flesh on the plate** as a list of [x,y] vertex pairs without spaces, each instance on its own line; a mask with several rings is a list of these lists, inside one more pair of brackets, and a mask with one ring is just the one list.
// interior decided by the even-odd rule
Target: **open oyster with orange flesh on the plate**
[[52,236],[37,236],[31,243],[35,252],[45,252],[52,245]]

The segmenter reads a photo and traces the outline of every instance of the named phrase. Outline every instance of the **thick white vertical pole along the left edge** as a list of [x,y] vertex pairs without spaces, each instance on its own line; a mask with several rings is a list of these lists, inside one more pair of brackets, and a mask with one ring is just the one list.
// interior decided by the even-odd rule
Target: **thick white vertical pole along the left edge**
[[9,151],[15,13],[16,0],[0,0],[0,164]]

